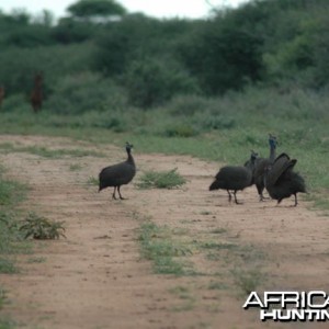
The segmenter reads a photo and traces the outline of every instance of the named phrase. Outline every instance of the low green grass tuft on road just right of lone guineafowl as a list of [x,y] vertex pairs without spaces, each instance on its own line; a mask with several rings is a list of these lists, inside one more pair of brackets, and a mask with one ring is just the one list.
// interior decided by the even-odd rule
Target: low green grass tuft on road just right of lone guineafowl
[[186,180],[177,172],[177,168],[169,171],[147,171],[137,183],[139,189],[174,189],[186,183]]

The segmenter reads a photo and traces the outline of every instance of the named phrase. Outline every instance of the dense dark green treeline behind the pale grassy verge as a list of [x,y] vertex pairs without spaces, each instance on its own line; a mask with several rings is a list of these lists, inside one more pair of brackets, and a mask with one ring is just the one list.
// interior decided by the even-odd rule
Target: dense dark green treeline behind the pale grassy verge
[[44,107],[66,114],[151,109],[178,95],[250,87],[327,90],[326,0],[251,0],[205,20],[158,20],[113,1],[117,7],[95,20],[95,8],[81,8],[88,2],[69,7],[56,24],[48,11],[0,13],[4,110],[26,100],[35,71],[45,77]]

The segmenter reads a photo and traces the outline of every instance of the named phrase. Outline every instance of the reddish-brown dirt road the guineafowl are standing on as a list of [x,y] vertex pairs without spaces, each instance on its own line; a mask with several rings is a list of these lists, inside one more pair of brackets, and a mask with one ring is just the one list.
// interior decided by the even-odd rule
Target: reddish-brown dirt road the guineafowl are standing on
[[[328,217],[309,204],[284,200],[260,203],[256,188],[228,203],[225,191],[209,192],[219,166],[192,157],[143,155],[134,150],[138,175],[170,170],[188,179],[175,190],[123,186],[128,200],[111,200],[87,184],[100,169],[125,158],[123,149],[67,138],[0,136],[0,143],[47,149],[102,151],[107,158],[43,158],[0,152],[8,174],[32,190],[23,207],[65,220],[67,239],[35,241],[20,256],[21,272],[1,275],[11,304],[2,310],[23,328],[326,328],[326,324],[260,322],[243,310],[248,277],[261,273],[257,291],[329,292]],[[194,275],[154,274],[140,258],[138,228],[151,220],[185,241]],[[217,248],[217,249],[216,249]],[[220,250],[219,250],[220,249]],[[33,260],[44,261],[33,261]],[[253,275],[253,276],[252,276]],[[257,280],[257,279],[254,279]],[[180,293],[180,292],[184,292]]]

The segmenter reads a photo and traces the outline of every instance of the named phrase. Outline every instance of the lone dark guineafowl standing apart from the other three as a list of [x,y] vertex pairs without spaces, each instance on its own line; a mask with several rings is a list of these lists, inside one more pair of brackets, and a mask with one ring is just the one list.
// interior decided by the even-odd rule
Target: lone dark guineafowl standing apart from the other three
[[102,171],[99,174],[99,192],[103,189],[113,186],[114,191],[112,194],[112,198],[116,200],[115,192],[117,190],[120,198],[124,200],[124,197],[121,195],[120,188],[121,185],[128,184],[136,174],[136,166],[132,156],[132,148],[133,145],[126,143],[126,151],[128,155],[127,160],[102,169]]

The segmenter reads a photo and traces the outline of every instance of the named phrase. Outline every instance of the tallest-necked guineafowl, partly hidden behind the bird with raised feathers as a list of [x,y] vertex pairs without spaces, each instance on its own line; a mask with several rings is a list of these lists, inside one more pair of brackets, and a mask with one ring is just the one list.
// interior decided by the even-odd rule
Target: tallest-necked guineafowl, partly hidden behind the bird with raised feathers
[[263,201],[263,191],[264,191],[264,173],[265,168],[272,164],[275,160],[275,149],[276,149],[276,137],[271,135],[269,136],[269,145],[270,145],[270,157],[269,158],[258,158],[254,162],[254,170],[253,170],[253,182],[256,184],[259,200]]

